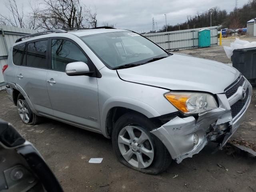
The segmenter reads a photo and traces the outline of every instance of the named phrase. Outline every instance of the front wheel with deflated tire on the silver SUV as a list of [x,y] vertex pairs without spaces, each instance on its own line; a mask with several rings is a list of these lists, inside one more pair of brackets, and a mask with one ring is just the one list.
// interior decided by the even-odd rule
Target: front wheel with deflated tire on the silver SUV
[[164,144],[152,133],[154,124],[142,114],[129,112],[114,124],[112,144],[118,160],[140,172],[158,174],[172,158]]

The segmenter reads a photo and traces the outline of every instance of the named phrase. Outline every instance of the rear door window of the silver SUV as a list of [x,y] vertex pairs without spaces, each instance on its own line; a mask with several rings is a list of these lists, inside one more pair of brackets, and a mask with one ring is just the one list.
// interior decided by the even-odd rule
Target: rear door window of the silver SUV
[[[26,50],[26,66],[48,68],[46,60],[48,40],[29,42]],[[24,58],[23,58],[24,60]]]

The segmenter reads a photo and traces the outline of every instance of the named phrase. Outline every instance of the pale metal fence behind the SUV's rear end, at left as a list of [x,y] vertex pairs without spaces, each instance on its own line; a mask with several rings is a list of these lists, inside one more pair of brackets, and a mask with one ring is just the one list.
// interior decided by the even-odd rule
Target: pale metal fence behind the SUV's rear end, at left
[[8,54],[11,54],[9,53],[10,46],[15,43],[16,39],[36,32],[38,31],[0,25],[0,90],[4,89],[5,85],[2,68],[7,64]]

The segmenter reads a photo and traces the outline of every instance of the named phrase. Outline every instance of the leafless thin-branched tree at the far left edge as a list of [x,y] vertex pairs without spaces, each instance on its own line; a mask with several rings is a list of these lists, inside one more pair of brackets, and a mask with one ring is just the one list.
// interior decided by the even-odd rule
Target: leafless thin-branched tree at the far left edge
[[24,28],[23,6],[18,8],[16,0],[6,1],[5,6],[9,10],[10,14],[7,16],[0,14],[0,24]]

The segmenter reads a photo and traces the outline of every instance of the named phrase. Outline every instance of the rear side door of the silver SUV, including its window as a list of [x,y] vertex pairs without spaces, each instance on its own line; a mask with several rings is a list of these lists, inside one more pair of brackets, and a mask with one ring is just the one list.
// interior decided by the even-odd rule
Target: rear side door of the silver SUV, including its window
[[27,42],[26,52],[16,73],[16,84],[24,90],[35,110],[53,114],[46,88],[48,39]]

